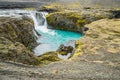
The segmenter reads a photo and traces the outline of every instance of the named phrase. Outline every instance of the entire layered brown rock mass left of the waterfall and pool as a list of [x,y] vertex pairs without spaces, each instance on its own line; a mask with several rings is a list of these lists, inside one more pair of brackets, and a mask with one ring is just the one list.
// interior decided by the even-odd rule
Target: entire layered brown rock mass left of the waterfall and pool
[[35,45],[33,21],[27,17],[0,18],[0,59],[38,64],[30,51]]

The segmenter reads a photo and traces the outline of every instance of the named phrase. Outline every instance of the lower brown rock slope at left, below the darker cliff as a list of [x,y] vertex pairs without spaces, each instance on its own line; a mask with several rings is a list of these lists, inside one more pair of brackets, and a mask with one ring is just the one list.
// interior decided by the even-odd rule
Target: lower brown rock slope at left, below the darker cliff
[[37,65],[38,59],[20,42],[0,37],[0,60]]

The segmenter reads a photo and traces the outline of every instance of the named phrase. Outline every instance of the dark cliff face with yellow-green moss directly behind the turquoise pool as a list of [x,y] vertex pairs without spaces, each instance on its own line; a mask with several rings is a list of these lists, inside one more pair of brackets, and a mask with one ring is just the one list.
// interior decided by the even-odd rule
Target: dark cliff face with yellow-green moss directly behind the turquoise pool
[[46,16],[47,22],[53,29],[62,29],[82,33],[86,20],[79,12],[55,12]]

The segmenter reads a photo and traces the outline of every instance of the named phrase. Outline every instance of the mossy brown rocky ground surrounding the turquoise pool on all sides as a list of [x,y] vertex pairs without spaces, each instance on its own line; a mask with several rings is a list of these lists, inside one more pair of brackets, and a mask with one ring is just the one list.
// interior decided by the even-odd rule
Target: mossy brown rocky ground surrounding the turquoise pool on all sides
[[33,21],[0,17],[0,80],[120,80],[119,9],[50,4],[39,10],[50,12],[46,16],[49,28],[83,34],[75,42],[74,54],[61,60],[57,55],[66,49],[59,49],[35,56],[31,51],[36,46]]

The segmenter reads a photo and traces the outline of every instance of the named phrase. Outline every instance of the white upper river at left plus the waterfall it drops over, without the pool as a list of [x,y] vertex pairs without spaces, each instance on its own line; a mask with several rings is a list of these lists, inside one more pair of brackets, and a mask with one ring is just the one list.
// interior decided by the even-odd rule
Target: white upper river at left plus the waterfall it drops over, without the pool
[[28,11],[28,10],[0,10],[0,16],[5,17],[21,17],[28,16],[33,19],[35,30],[41,31],[42,33],[48,33],[54,35],[54,30],[47,28],[46,15],[47,12]]

